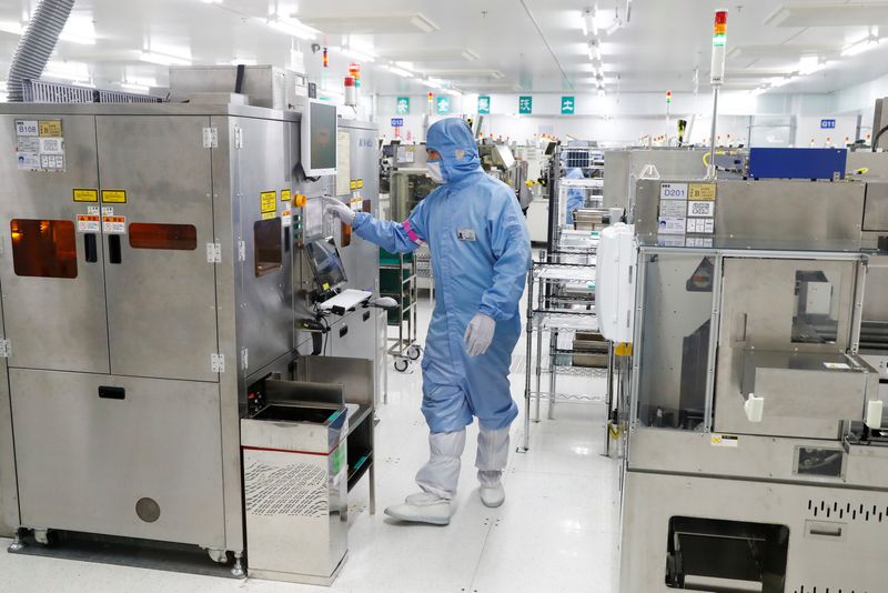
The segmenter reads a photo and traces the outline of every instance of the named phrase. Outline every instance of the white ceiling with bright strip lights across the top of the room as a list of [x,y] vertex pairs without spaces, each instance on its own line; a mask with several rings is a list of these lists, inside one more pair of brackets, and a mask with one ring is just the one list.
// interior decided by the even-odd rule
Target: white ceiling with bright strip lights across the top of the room
[[[295,40],[306,71],[322,87],[341,88],[352,58],[339,49],[374,54],[363,63],[365,93],[424,93],[423,77],[466,92],[588,90],[594,74],[582,11],[593,0],[78,0],[75,18],[94,31],[94,44],[60,41],[53,60],[87,64],[100,87],[123,80],[167,82],[167,69],[140,60],[143,50],[165,52],[193,63],[249,61],[286,66],[291,38],[269,27],[270,17],[294,18],[319,29],[313,40]],[[708,88],[713,11],[722,0],[633,0],[632,18],[605,32],[615,7],[626,0],[597,0],[603,71],[608,92]],[[727,4],[728,83],[755,86],[798,69],[805,56],[835,61],[825,70],[784,87],[791,92],[830,92],[888,73],[888,42],[854,57],[841,48],[888,22],[886,1],[808,1],[803,7],[773,0]],[[3,0],[0,23],[21,24],[37,0]],[[775,7],[789,16],[775,14]],[[625,20],[625,14],[620,12]],[[861,19],[869,19],[861,23]],[[85,23],[85,24],[84,24]],[[19,41],[0,24],[0,80]],[[14,30],[14,27],[11,28]],[[885,31],[888,36],[888,30]],[[317,50],[312,49],[317,44]],[[330,67],[320,48],[329,47]],[[411,78],[386,70],[408,62]],[[403,66],[403,64],[402,64]],[[79,67],[78,67],[79,68]],[[734,81],[731,81],[731,77]],[[758,80],[757,80],[758,79]]]

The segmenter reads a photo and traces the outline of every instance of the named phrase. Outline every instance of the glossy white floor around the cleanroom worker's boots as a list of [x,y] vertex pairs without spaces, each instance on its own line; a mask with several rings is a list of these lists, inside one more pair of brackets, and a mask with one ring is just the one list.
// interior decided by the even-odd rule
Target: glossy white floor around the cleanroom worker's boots
[[[427,303],[427,300],[423,304]],[[420,326],[427,325],[428,308]],[[516,355],[524,353],[519,344]],[[569,378],[559,378],[559,391]],[[578,381],[574,379],[574,381]],[[603,382],[574,385],[604,390]],[[427,455],[420,413],[418,364],[407,373],[390,366],[389,403],[376,429],[377,512],[370,515],[366,484],[352,493],[350,556],[332,587],[314,587],[167,573],[0,552],[0,591],[59,593],[612,593],[617,579],[618,464],[602,456],[601,405],[559,405],[556,420],[531,425],[531,450],[515,449],[523,434],[524,375],[512,390],[522,408],[513,425],[513,452],[504,479],[505,504],[482,505],[474,471],[476,426],[470,429],[458,510],[450,526],[397,524],[382,510],[415,491],[413,476]],[[8,540],[0,539],[3,547]]]

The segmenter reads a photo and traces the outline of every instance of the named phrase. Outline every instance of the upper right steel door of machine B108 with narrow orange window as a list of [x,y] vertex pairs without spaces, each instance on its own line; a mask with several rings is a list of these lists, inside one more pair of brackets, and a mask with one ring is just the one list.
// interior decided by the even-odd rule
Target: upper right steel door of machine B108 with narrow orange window
[[[97,118],[102,205],[127,225],[127,234],[104,238],[114,374],[216,380],[210,366],[218,352],[215,273],[206,258],[206,244],[215,242],[210,150],[203,148],[209,123],[206,117]],[[124,190],[127,202],[109,203],[104,190]],[[179,241],[164,241],[164,232]],[[111,241],[120,241],[117,259]]]

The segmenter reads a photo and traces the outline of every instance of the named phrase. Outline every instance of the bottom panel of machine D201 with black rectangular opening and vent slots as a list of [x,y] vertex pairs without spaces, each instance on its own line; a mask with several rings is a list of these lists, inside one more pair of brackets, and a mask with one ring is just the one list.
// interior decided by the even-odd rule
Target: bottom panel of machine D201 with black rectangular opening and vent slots
[[622,593],[680,591],[667,586],[664,579],[669,520],[677,515],[787,526],[785,581],[778,589],[764,591],[885,589],[886,492],[628,472],[623,509]]

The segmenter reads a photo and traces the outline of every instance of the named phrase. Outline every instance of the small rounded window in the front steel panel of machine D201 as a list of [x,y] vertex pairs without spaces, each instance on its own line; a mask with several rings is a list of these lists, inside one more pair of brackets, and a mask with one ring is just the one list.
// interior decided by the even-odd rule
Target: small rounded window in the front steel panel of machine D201
[[796,272],[793,342],[835,344],[838,338],[837,282],[819,270]]

